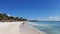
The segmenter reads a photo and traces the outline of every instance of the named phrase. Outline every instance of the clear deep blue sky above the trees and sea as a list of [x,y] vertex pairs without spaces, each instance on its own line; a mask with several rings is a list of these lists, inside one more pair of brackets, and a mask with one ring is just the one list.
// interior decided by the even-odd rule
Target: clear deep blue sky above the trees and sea
[[0,0],[0,12],[37,20],[60,20],[60,0]]

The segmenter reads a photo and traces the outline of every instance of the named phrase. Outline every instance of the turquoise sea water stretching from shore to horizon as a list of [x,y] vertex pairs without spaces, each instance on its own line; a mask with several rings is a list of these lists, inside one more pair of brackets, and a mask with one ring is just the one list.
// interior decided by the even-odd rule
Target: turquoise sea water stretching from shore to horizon
[[28,24],[47,34],[60,34],[60,21],[29,22]]

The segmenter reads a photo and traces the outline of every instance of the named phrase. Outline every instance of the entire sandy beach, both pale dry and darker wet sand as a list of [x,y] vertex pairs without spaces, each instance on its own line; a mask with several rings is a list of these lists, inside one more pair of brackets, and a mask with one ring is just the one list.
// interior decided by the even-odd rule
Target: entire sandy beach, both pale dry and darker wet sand
[[0,22],[0,34],[44,34],[26,25],[21,25],[21,23],[22,22]]

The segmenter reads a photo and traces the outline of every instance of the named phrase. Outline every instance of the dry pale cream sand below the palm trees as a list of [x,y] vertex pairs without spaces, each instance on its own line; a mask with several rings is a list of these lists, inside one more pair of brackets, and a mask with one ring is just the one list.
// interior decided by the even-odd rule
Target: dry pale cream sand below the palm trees
[[19,26],[22,22],[0,23],[0,34],[20,34]]

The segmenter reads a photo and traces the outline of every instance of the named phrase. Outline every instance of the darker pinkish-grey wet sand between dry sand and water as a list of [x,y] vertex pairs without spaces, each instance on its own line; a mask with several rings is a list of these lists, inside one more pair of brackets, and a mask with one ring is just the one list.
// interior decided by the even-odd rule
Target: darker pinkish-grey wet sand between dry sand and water
[[35,29],[27,24],[24,24],[20,27],[20,32],[21,32],[21,34],[46,34],[42,31],[38,31],[37,29]]

